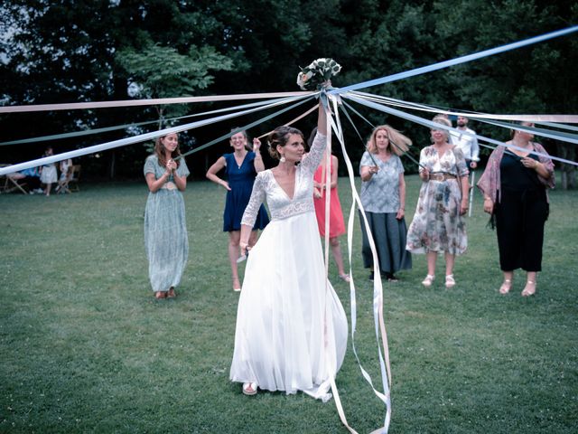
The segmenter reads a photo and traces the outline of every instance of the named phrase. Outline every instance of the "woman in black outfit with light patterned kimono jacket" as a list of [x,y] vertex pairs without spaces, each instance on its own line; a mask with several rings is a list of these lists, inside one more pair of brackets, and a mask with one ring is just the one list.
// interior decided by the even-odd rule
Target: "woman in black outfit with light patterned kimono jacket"
[[[523,127],[533,123],[521,122]],[[508,294],[515,269],[526,270],[522,296],[536,293],[536,275],[542,269],[544,224],[548,217],[547,188],[554,188],[554,163],[528,130],[512,130],[506,146],[498,146],[478,182],[484,211],[492,216],[498,236],[499,267],[504,281],[500,294]],[[538,153],[539,156],[536,154]]]

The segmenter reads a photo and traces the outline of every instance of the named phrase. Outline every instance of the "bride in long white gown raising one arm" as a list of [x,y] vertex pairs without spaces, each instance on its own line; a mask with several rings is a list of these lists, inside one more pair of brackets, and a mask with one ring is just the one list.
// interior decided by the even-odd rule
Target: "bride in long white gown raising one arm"
[[258,386],[287,394],[303,391],[328,401],[331,377],[343,362],[347,318],[325,277],[313,206],[313,174],[326,135],[321,103],[318,133],[307,155],[301,131],[275,129],[269,152],[279,165],[256,176],[241,221],[245,253],[259,205],[266,200],[271,222],[248,254],[230,370],[230,379],[243,382],[248,395]]

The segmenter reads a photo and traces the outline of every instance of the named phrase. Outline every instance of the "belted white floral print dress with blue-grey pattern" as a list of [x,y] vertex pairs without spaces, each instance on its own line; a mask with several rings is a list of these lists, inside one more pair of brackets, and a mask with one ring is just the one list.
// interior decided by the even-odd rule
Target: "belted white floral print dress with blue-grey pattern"
[[444,251],[460,255],[468,247],[466,224],[460,215],[460,177],[469,174],[463,153],[454,146],[439,156],[433,146],[426,146],[419,162],[420,172],[425,167],[430,174],[456,177],[422,184],[414,220],[407,231],[406,249],[412,253]]

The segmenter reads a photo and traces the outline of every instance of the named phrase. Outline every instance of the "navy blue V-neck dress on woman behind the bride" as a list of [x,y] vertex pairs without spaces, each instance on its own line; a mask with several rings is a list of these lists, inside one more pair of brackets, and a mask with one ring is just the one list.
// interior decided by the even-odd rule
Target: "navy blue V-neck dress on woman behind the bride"
[[[228,186],[230,190],[227,192],[225,198],[225,212],[223,212],[223,231],[240,231],[241,218],[243,212],[247,207],[251,191],[253,190],[253,183],[255,182],[255,153],[247,152],[243,163],[239,166],[235,159],[235,154],[225,154],[226,166],[225,172],[227,174]],[[259,212],[257,212],[256,222],[253,229],[263,230],[269,222],[265,206],[261,205]]]

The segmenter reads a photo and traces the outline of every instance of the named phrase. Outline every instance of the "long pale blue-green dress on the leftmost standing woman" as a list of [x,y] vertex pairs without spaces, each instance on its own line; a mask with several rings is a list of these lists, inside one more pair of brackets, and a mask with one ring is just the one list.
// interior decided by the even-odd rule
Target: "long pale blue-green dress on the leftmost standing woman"
[[[177,175],[188,176],[189,168],[182,158]],[[144,175],[155,179],[163,176],[165,168],[157,156],[148,156]],[[148,275],[153,291],[168,291],[181,283],[182,271],[189,257],[189,240],[184,215],[182,193],[172,175],[155,193],[148,193],[144,210],[144,248],[148,258]]]

